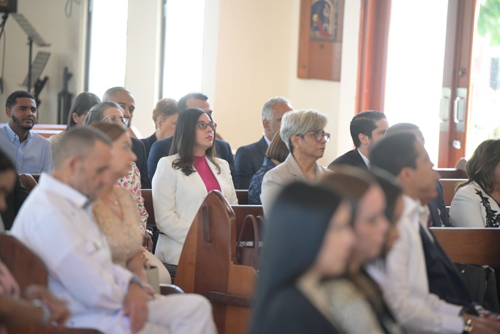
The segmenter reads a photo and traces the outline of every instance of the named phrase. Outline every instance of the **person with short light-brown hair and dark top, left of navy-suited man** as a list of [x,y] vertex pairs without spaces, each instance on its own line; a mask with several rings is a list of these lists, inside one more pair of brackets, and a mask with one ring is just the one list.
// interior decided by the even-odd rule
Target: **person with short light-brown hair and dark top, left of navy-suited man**
[[155,141],[173,135],[175,124],[177,124],[177,117],[177,101],[170,98],[164,98],[156,103],[153,109],[155,131],[149,137],[140,140],[146,149],[146,159],[149,157],[149,151]]

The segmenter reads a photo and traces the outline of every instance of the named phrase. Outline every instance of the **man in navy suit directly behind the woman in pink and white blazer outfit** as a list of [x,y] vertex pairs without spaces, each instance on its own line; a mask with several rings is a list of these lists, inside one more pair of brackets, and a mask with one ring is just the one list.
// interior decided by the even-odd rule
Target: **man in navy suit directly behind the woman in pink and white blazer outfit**
[[[177,104],[178,113],[180,114],[187,108],[202,109],[208,114],[210,120],[212,119],[212,109],[210,107],[210,103],[208,102],[208,97],[203,93],[193,92],[181,97]],[[172,141],[173,136],[170,136],[161,140],[157,140],[154,144],[151,145],[149,157],[147,158],[149,181],[152,181],[153,179],[159,159],[170,155],[170,147],[172,146]],[[239,189],[238,178],[236,176],[236,171],[234,170],[234,157],[232,155],[231,146],[228,142],[220,139],[215,139],[215,152],[220,159],[227,161],[227,163],[229,164],[234,189]]]

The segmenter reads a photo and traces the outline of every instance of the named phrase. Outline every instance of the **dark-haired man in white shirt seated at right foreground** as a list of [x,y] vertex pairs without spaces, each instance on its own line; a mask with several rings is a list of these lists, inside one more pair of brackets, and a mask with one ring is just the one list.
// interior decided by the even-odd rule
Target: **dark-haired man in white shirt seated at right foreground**
[[428,216],[428,211],[419,198],[435,190],[435,179],[423,145],[412,133],[392,135],[373,146],[370,164],[395,175],[404,193],[399,239],[387,254],[384,268],[368,267],[397,321],[409,333],[462,333],[472,327],[479,331],[496,326],[493,319],[464,313],[462,306],[429,292],[420,238],[421,216]]

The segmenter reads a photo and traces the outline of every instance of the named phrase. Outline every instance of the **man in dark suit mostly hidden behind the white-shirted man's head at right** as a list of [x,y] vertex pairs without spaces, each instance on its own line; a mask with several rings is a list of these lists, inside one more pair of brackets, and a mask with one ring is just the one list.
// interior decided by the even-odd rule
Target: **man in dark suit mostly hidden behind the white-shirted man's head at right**
[[[416,139],[425,145],[425,139],[420,131],[420,128],[412,123],[397,123],[392,125],[385,132],[386,136],[391,136],[396,133],[411,132],[416,136]],[[430,224],[433,227],[453,227],[449,222],[448,213],[446,212],[446,204],[442,195],[442,185],[439,183],[439,175],[435,173],[436,179],[436,194],[434,197],[426,201],[430,211]]]

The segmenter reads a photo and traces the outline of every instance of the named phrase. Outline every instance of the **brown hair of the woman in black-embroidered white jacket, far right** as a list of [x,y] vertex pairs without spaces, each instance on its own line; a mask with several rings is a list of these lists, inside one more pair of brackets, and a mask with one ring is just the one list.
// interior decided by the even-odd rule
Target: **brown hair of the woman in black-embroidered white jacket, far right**
[[475,182],[487,193],[494,190],[494,170],[500,163],[500,139],[488,139],[477,146],[465,165],[468,180],[459,183],[456,190],[466,184]]

